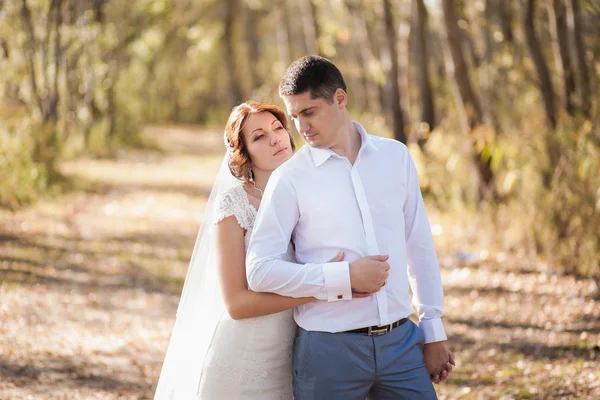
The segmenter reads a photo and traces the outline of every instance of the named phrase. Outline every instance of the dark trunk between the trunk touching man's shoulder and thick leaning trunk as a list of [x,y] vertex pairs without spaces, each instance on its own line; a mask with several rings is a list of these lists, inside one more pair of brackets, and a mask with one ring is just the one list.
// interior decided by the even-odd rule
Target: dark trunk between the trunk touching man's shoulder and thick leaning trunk
[[[431,90],[431,79],[429,77],[429,49],[427,44],[427,36],[429,31],[429,21],[427,8],[423,0],[413,1],[413,18],[415,24],[413,26],[417,49],[416,57],[416,73],[419,82],[419,95],[421,99],[421,122],[428,125],[427,131],[435,129],[435,106],[433,103],[433,92]],[[421,132],[421,129],[418,130]],[[419,145],[423,147],[427,137],[419,135]]]

